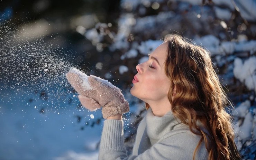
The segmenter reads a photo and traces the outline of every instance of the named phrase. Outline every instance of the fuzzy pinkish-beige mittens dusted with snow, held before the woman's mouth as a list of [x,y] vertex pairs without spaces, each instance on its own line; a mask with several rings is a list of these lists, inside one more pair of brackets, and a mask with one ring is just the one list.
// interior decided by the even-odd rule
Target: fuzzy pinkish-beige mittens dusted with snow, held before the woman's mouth
[[[79,73],[79,75],[75,75]],[[81,72],[82,73],[82,72]],[[81,104],[91,111],[97,110],[102,106],[103,118],[126,113],[129,111],[129,104],[121,93],[121,90],[108,82],[96,76],[86,77],[80,72],[68,72],[66,77],[70,84],[80,94]],[[85,79],[83,79],[85,78]],[[83,85],[86,84],[86,87]],[[90,88],[92,89],[88,89]]]

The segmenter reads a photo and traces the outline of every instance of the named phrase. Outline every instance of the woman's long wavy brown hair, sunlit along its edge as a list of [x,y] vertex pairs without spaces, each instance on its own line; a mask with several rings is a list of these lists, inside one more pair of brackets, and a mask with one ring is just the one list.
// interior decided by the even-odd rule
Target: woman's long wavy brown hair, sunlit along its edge
[[[192,133],[201,136],[193,159],[203,141],[209,152],[208,160],[240,159],[232,118],[225,111],[232,103],[214,71],[210,53],[175,34],[165,36],[164,42],[168,43],[165,72],[171,80],[168,98],[173,115],[188,125]],[[146,108],[149,108],[147,103]],[[196,125],[196,121],[200,121],[208,133]]]

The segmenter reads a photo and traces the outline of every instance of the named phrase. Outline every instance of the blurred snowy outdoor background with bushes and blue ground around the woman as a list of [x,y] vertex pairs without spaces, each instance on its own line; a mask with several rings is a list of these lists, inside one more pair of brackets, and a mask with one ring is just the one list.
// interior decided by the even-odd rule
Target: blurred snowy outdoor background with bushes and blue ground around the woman
[[235,110],[243,159],[256,159],[255,0],[0,1],[0,159],[98,159],[103,125],[65,79],[71,68],[121,88],[130,154],[144,103],[129,90],[136,65],[167,34],[211,52]]

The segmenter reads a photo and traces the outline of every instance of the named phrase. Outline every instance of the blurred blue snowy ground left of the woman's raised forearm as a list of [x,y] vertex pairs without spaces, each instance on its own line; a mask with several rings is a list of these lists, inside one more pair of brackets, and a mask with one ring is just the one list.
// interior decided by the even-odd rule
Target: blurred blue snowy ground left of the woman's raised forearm
[[0,93],[0,159],[98,159],[100,111],[77,109],[78,103],[69,105],[50,94],[46,103],[24,90]]

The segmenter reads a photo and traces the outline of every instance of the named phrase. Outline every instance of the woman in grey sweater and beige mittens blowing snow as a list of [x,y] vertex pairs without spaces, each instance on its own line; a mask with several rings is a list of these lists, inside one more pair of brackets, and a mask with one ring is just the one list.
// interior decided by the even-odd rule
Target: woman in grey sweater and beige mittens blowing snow
[[88,78],[93,90],[81,90],[83,78],[67,74],[86,108],[103,106],[106,120],[99,159],[240,159],[231,117],[225,111],[231,103],[206,50],[181,36],[167,35],[136,69],[130,93],[146,103],[147,113],[138,126],[130,157],[122,122],[129,106],[121,91],[95,76]]

